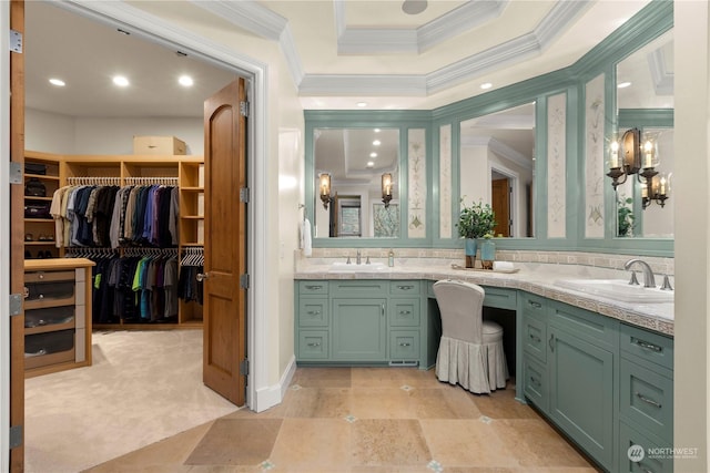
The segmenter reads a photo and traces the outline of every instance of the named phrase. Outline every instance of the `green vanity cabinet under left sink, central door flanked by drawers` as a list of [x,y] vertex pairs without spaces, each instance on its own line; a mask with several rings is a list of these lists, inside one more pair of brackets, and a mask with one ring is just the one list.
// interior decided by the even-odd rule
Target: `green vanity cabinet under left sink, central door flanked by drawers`
[[[423,281],[332,279],[296,285],[298,363],[426,368]],[[326,289],[317,289],[320,285]]]

